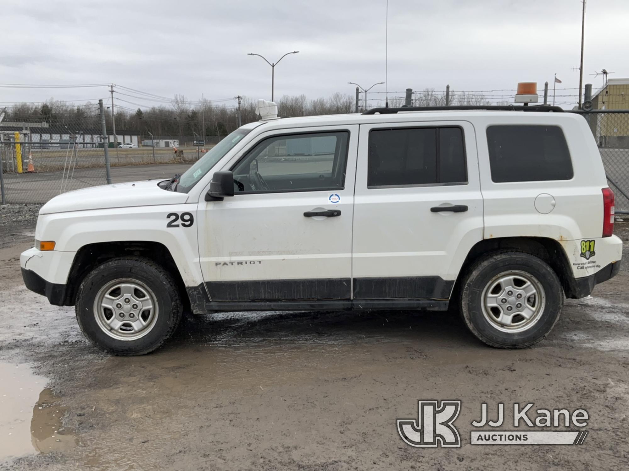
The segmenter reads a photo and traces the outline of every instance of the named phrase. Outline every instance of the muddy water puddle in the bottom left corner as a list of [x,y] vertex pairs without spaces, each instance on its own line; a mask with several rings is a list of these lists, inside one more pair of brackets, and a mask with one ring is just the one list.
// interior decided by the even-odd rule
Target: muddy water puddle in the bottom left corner
[[72,431],[62,427],[65,408],[47,381],[26,364],[0,362],[0,460],[76,445]]

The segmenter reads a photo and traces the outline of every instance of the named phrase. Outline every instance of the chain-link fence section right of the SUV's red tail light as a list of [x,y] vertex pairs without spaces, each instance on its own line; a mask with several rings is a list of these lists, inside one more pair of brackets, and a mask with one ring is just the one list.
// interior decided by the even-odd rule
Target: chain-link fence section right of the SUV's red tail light
[[616,195],[616,212],[629,212],[629,111],[580,112],[601,152],[610,188]]

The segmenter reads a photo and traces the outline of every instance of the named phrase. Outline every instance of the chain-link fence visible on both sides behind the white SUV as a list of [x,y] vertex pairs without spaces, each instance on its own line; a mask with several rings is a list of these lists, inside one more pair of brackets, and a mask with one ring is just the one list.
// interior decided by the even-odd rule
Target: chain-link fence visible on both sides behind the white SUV
[[[580,111],[598,144],[617,212],[629,212],[629,111]],[[45,203],[59,193],[104,185],[106,173],[97,115],[61,124],[19,123],[0,126],[0,167],[7,203]],[[18,123],[16,123],[18,124]],[[196,137],[196,136],[195,136]],[[157,136],[156,136],[157,139]],[[210,142],[212,141],[212,142]],[[206,137],[205,148],[214,138]],[[109,149],[112,168],[156,163],[192,163],[197,148]],[[120,168],[115,181],[129,181]],[[118,178],[116,178],[118,177]]]

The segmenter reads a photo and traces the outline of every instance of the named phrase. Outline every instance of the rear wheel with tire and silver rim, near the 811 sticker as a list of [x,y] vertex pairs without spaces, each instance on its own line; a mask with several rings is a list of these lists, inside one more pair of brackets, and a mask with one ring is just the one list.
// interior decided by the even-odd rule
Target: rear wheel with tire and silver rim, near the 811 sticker
[[467,327],[492,347],[518,349],[540,342],[564,305],[557,274],[523,252],[490,254],[463,279],[461,313]]

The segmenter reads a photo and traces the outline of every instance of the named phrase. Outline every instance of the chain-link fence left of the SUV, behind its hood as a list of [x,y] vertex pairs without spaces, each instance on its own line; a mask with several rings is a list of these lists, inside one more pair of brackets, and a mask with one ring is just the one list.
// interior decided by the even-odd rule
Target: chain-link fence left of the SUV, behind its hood
[[[96,127],[99,124],[96,118],[86,117],[60,124],[3,122],[0,126],[3,202],[45,203],[60,193],[106,184],[105,149],[101,129]],[[153,148],[140,143],[135,148],[115,148],[110,144],[112,180],[116,183],[142,178],[170,178],[175,173],[170,166],[160,170],[148,165],[189,164],[203,156],[212,145],[208,143],[204,148]],[[138,165],[147,166],[147,171],[138,175]],[[177,168],[179,173],[183,170],[181,165]]]

